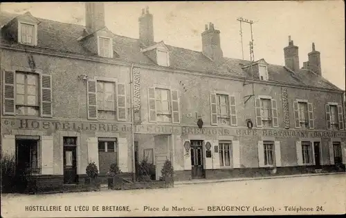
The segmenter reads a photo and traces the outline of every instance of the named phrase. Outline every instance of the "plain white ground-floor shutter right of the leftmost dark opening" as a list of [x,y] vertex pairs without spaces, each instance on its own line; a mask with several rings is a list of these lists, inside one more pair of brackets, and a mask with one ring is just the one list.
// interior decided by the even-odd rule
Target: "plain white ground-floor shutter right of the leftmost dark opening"
[[41,166],[42,166],[42,175],[53,175],[53,136],[42,136],[41,137]]

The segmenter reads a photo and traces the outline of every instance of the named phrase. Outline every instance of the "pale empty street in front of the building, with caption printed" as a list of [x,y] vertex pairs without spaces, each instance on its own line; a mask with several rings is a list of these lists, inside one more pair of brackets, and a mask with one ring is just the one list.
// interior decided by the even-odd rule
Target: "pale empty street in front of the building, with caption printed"
[[[3,195],[1,216],[343,214],[346,212],[345,191],[346,175],[339,174],[180,185],[167,189]],[[69,206],[71,211],[66,212]],[[98,211],[93,211],[96,206]],[[167,210],[163,211],[163,207]],[[59,209],[61,211],[44,211]]]

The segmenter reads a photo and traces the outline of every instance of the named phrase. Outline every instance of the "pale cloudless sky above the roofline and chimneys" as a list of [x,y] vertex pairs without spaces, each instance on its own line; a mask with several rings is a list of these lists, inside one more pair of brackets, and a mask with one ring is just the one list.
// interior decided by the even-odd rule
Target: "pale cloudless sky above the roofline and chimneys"
[[[185,1],[106,2],[106,26],[114,34],[138,39],[138,17],[149,7],[154,40],[201,51],[201,32],[212,22],[221,34],[225,57],[242,59],[238,17],[252,20],[255,60],[284,65],[289,36],[299,46],[300,67],[314,42],[320,51],[322,76],[345,90],[344,1]],[[85,25],[82,2],[1,3],[1,10],[64,23]],[[243,23],[244,59],[250,59],[250,25]]]

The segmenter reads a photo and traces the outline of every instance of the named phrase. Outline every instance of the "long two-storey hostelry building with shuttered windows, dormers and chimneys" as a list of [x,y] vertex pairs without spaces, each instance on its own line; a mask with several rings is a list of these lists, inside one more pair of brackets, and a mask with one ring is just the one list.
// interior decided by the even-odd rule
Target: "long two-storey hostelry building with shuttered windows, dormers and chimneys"
[[138,22],[131,39],[102,3],[86,3],[86,26],[1,12],[1,151],[42,189],[84,183],[91,161],[129,177],[147,159],[158,179],[169,159],[176,180],[344,166],[344,92],[314,44],[300,68],[289,39],[277,66],[224,57],[212,23],[197,52],[154,41],[148,10]]

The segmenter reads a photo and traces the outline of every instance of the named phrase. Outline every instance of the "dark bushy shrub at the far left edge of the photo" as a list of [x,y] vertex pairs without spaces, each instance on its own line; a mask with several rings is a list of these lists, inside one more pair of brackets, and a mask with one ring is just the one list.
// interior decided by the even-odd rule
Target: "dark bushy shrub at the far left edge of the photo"
[[15,156],[1,155],[1,192],[15,192],[16,180]]

